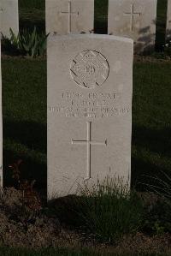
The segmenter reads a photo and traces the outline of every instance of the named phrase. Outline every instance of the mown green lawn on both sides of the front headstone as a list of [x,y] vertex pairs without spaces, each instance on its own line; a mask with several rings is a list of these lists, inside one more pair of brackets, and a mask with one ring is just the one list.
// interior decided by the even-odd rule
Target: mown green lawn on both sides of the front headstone
[[[132,183],[171,171],[171,63],[133,69]],[[23,175],[46,188],[46,62],[3,59],[3,170],[23,159]]]

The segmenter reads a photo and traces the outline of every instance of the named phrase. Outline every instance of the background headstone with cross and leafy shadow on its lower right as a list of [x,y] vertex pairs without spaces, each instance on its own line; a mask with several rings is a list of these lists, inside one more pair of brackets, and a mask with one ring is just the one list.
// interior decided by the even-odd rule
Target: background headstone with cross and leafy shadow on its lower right
[[156,0],[109,0],[108,30],[133,39],[135,53],[151,51],[156,39]]

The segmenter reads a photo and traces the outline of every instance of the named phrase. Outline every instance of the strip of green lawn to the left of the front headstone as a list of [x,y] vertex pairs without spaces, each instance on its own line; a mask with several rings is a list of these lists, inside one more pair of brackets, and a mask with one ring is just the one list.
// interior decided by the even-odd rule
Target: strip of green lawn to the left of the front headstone
[[[46,182],[46,64],[3,60],[3,164],[23,159],[23,175]],[[41,178],[40,178],[41,177]]]

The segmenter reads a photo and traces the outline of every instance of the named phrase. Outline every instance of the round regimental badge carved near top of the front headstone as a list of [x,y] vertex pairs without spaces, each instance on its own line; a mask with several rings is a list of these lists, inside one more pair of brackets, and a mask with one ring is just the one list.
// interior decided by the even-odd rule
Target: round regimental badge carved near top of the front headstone
[[109,76],[109,63],[100,52],[86,50],[78,54],[71,64],[71,76],[82,88],[101,86]]

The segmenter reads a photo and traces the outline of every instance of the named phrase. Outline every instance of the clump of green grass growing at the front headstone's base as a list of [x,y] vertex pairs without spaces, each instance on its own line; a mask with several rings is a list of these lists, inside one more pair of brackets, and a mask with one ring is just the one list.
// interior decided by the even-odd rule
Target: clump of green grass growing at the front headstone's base
[[114,243],[123,235],[139,229],[143,205],[137,193],[121,180],[109,178],[89,189],[80,188],[82,205],[78,215],[85,229],[100,241]]

